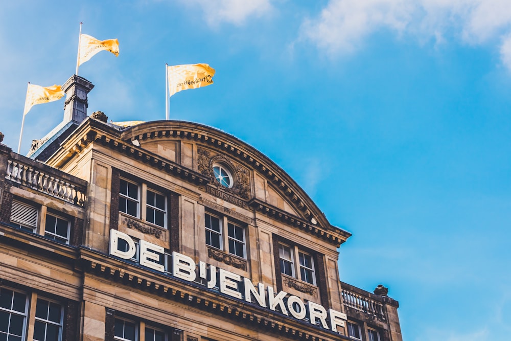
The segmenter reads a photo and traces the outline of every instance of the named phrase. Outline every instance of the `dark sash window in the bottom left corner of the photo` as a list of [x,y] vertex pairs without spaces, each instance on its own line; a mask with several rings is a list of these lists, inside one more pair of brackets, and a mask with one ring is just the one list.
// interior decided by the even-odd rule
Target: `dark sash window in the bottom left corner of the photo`
[[25,293],[0,290],[0,340],[25,339],[28,300]]

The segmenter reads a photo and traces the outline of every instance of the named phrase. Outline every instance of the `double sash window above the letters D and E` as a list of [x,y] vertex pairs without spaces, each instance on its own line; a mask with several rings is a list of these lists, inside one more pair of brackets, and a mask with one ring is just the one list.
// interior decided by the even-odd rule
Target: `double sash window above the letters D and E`
[[146,184],[119,179],[119,211],[167,228],[167,196],[149,189]]

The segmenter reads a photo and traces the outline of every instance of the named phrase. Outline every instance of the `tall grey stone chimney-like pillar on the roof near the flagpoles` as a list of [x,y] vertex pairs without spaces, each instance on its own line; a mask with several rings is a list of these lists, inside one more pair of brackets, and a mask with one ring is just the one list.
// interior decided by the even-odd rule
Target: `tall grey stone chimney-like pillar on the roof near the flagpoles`
[[62,89],[65,92],[64,122],[82,123],[87,117],[87,94],[94,88],[91,82],[83,77],[73,75]]

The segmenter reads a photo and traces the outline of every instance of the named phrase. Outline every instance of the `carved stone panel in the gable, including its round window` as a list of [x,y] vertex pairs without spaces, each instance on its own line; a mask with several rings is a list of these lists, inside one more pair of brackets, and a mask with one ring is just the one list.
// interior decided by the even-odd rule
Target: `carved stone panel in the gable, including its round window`
[[237,195],[243,199],[250,198],[250,177],[245,167],[235,164],[225,155],[212,156],[210,151],[197,148],[199,172],[210,178],[212,186]]

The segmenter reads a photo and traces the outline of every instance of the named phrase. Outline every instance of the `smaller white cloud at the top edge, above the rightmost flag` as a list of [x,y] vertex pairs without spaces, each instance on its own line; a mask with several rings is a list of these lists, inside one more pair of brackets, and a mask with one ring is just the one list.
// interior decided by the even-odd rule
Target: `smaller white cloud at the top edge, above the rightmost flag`
[[261,17],[273,9],[270,0],[188,0],[189,6],[201,7],[205,20],[211,26],[221,22],[242,25],[250,16]]

